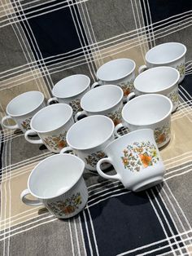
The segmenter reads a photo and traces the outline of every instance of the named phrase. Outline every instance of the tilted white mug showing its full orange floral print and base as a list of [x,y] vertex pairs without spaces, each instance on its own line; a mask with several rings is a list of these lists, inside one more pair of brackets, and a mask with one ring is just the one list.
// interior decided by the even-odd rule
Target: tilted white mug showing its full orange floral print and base
[[[104,152],[107,158],[98,161],[97,170],[105,179],[120,180],[124,188],[134,192],[163,181],[164,163],[151,129],[130,132],[108,144]],[[114,166],[116,174],[108,175],[101,170],[101,164],[106,162]]]

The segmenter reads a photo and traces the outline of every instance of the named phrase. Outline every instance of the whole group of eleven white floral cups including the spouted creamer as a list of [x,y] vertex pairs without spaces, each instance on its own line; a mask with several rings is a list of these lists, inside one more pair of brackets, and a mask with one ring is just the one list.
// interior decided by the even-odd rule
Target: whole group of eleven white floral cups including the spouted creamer
[[[88,200],[85,168],[118,179],[134,192],[162,182],[159,148],[171,138],[171,113],[177,109],[178,84],[185,77],[185,52],[178,42],[155,46],[146,53],[146,65],[137,77],[130,59],[103,64],[92,86],[85,75],[65,77],[55,84],[48,106],[40,91],[12,99],[2,125],[20,128],[28,142],[44,143],[51,152],[59,152],[33,169],[21,200],[68,218]],[[16,124],[7,126],[7,119]],[[110,165],[116,174],[103,172]],[[37,200],[28,199],[28,194]]]

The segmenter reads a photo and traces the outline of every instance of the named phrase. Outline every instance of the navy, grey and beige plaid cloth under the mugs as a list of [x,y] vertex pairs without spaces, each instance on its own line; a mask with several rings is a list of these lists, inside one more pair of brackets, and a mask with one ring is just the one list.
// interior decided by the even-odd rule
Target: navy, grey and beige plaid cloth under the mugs
[[20,201],[28,174],[52,153],[20,130],[1,130],[1,255],[192,255],[191,7],[190,0],[1,2],[1,117],[24,91],[41,90],[48,99],[63,77],[83,73],[95,82],[108,60],[127,57],[138,67],[159,43],[187,47],[172,139],[161,150],[164,183],[155,188],[133,193],[85,170],[85,210],[59,220]]

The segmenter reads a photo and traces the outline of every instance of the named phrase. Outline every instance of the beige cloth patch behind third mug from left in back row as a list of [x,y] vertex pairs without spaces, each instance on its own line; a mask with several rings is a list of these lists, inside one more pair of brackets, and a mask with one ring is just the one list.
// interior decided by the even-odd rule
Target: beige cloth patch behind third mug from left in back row
[[137,68],[142,64],[145,64],[144,56],[148,51],[148,46],[146,44],[146,37],[140,36],[139,38],[133,38],[121,43],[117,43],[115,46],[105,47],[103,50],[94,52],[94,62],[99,68],[101,62],[99,60],[102,58],[103,63],[110,60],[115,60],[119,58],[128,58],[135,61],[136,73]]

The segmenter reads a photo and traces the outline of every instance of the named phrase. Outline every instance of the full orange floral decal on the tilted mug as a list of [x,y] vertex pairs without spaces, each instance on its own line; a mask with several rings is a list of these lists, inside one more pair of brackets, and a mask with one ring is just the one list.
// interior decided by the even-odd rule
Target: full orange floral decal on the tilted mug
[[153,166],[159,161],[157,149],[153,143],[147,142],[134,142],[123,151],[124,156],[121,157],[124,169],[130,171],[140,171]]

